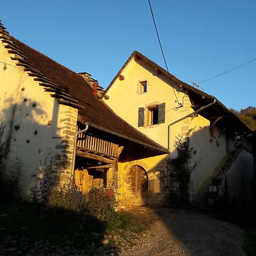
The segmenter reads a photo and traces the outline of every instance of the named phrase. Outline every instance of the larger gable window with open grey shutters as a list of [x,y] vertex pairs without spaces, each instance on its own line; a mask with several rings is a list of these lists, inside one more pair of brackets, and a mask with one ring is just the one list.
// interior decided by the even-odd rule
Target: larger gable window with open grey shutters
[[158,125],[164,123],[166,117],[166,103],[139,108],[138,127],[148,125]]

